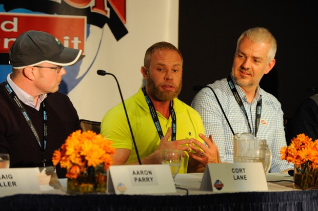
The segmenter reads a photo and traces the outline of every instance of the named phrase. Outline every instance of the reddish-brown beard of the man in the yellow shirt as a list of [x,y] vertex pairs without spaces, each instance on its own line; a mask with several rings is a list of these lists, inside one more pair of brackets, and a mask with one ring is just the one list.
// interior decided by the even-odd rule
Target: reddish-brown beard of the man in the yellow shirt
[[[168,90],[161,91],[158,89],[158,87],[165,85],[165,84],[173,85],[176,88],[176,90],[175,91],[168,91]],[[151,76],[149,75],[146,86],[148,87],[148,90],[150,92],[148,94],[154,100],[159,101],[159,102],[167,102],[167,101],[170,101],[173,98],[177,97],[178,94],[180,94],[181,88],[182,88],[182,79],[180,81],[179,86],[176,86],[173,83],[163,82],[156,87],[154,81],[152,80]]]

